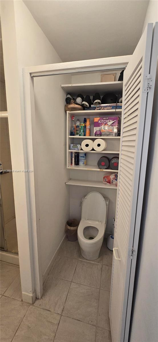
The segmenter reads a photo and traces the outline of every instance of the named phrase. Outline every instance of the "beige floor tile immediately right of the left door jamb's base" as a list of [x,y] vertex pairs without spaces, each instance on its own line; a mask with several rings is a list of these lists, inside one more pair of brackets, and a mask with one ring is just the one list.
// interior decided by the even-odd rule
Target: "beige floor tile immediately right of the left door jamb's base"
[[43,285],[42,299],[37,299],[34,305],[61,314],[70,284],[50,274]]

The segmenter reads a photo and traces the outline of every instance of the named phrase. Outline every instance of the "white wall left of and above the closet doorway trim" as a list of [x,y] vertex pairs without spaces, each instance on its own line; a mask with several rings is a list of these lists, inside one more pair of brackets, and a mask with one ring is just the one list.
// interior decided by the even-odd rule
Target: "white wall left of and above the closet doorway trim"
[[[22,67],[61,62],[61,59],[23,1],[1,1],[1,27],[12,168],[25,170]],[[22,292],[23,299],[31,301],[35,286],[34,266],[30,261],[32,236],[27,176],[23,172],[13,173]]]

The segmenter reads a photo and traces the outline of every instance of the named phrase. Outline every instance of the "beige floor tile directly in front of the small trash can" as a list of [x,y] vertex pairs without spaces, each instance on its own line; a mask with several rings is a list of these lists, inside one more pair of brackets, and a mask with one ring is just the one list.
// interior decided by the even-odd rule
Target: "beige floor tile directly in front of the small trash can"
[[60,255],[78,259],[80,256],[80,246],[78,241],[71,242],[66,240],[63,248],[60,251]]

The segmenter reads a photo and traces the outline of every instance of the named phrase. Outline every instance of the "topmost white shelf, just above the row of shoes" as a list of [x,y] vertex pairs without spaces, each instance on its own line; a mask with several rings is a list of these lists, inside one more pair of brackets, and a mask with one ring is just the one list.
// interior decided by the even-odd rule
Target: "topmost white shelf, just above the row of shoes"
[[67,94],[77,95],[81,93],[82,95],[94,95],[96,92],[100,95],[106,93],[120,93],[122,92],[123,82],[99,82],[99,83],[79,83],[79,84],[61,84],[62,89],[65,90]]

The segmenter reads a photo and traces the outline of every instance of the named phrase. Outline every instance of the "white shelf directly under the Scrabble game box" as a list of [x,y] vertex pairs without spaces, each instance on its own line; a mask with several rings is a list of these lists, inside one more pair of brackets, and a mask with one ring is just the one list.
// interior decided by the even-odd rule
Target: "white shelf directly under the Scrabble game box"
[[97,117],[97,116],[103,116],[106,115],[107,116],[110,116],[110,115],[114,115],[114,116],[117,116],[117,115],[121,115],[122,113],[122,109],[97,109],[97,110],[76,110],[76,111],[68,111],[68,113],[70,115],[73,115],[73,116],[77,116],[77,117],[80,117],[80,116],[83,116],[83,117],[86,117],[86,116],[94,116],[94,117]]

